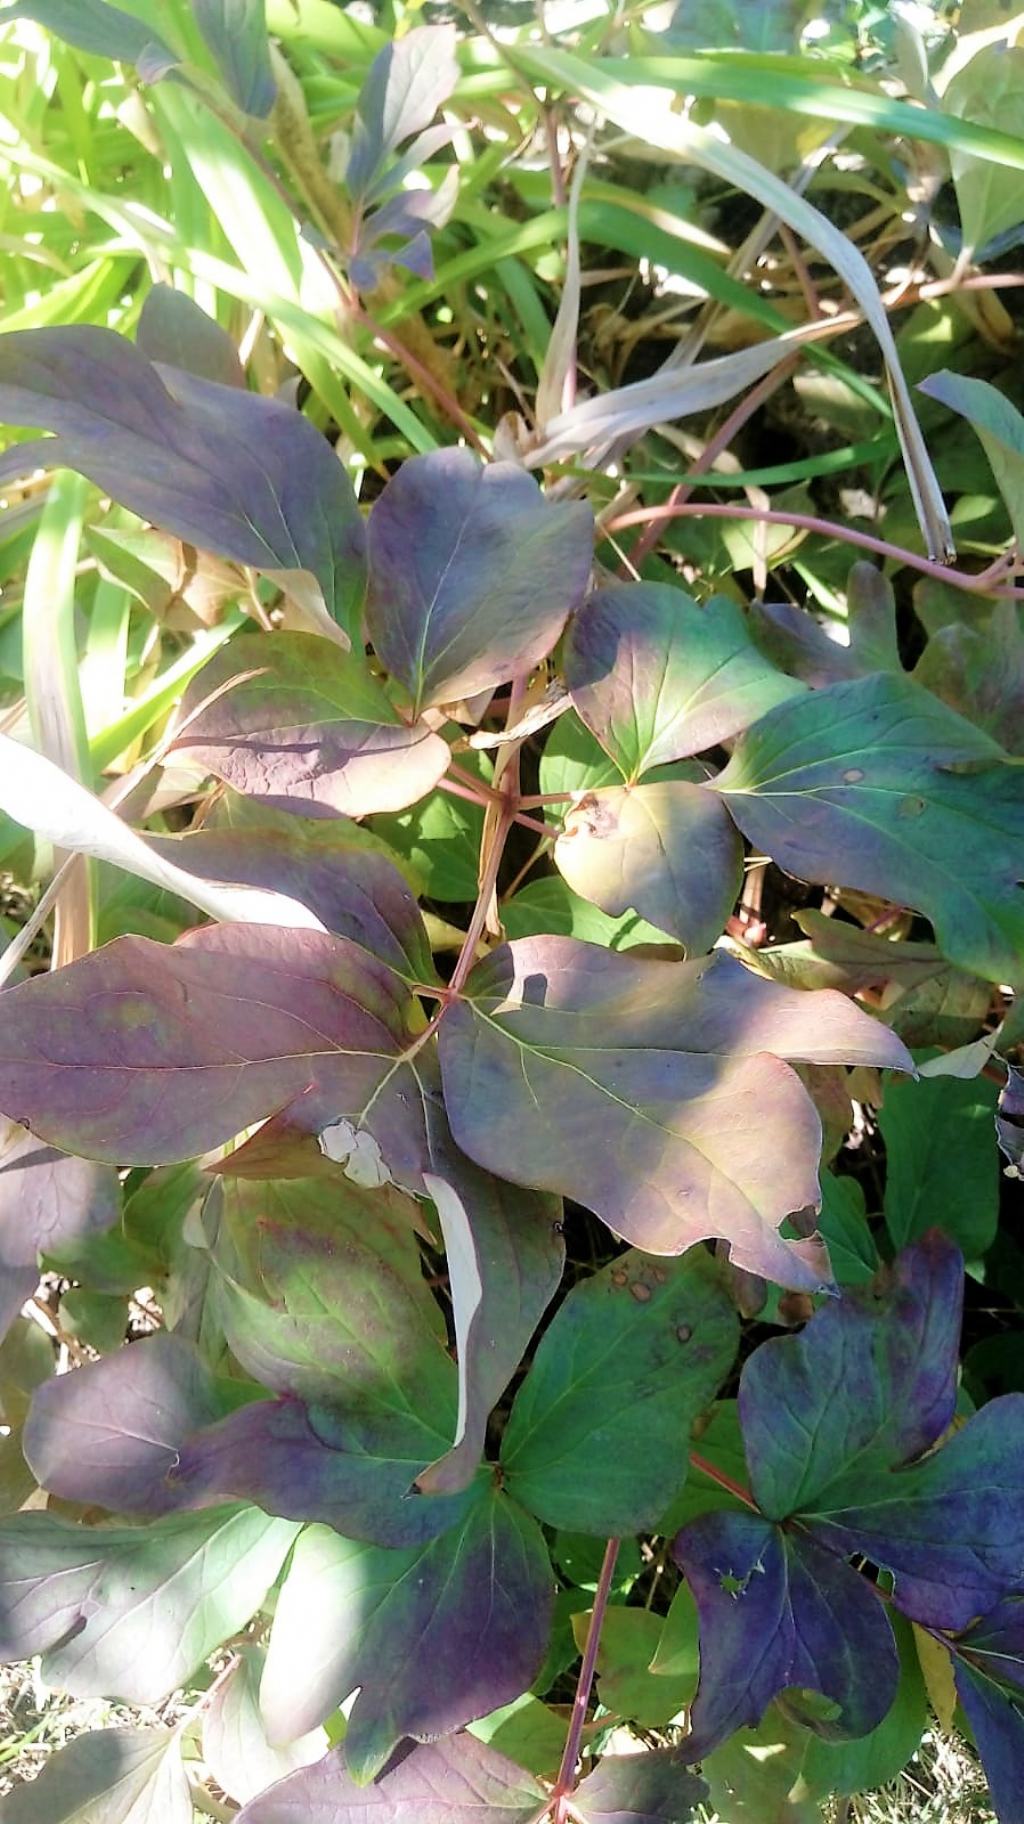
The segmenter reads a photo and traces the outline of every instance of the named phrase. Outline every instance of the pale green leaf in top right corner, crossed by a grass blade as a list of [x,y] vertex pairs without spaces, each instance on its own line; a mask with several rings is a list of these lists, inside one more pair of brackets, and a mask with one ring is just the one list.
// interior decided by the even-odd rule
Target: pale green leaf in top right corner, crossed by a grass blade
[[[958,120],[995,128],[1024,139],[1024,49],[986,44],[958,69],[946,89],[944,108]],[[978,248],[1024,221],[1019,177],[998,164],[971,157],[956,146],[949,150],[953,184],[960,206],[964,254]]]

